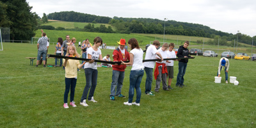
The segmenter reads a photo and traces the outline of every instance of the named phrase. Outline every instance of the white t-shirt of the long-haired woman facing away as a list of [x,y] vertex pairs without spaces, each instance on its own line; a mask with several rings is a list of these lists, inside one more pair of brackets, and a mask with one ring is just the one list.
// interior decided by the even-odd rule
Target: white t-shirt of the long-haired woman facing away
[[144,68],[143,65],[143,54],[144,52],[141,49],[132,49],[130,53],[133,54],[133,64],[131,70],[139,70]]

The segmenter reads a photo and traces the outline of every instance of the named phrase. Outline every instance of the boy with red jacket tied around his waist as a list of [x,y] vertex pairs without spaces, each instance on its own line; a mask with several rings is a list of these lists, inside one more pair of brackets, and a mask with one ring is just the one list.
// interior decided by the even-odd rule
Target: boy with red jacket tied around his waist
[[[160,52],[161,56],[163,58],[167,58],[167,53],[166,50],[168,49],[168,44],[164,43],[163,46],[161,47],[161,49],[158,49],[158,52]],[[158,57],[156,57],[158,58]],[[158,58],[159,59],[159,58]],[[156,68],[155,68],[155,72],[154,72],[154,76],[156,79],[156,88],[155,88],[155,92],[159,91],[160,88],[160,83],[162,80],[163,83],[163,90],[169,91],[167,88],[167,84],[166,84],[166,78],[167,78],[167,67],[166,67],[166,62],[170,62],[170,61],[157,61],[156,62]]]

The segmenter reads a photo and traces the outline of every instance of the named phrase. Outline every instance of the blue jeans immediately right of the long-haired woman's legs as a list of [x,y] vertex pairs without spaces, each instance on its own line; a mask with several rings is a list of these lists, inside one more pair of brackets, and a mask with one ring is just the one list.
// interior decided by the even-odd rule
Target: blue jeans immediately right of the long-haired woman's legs
[[153,68],[145,67],[145,72],[147,75],[146,84],[145,84],[145,93],[147,94],[151,92],[151,86],[153,81]]

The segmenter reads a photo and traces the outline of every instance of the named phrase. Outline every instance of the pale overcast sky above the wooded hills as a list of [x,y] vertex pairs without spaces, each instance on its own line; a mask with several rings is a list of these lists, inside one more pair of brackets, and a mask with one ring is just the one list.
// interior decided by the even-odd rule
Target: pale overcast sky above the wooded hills
[[255,0],[27,0],[40,17],[74,11],[105,17],[176,20],[236,34],[256,35]]

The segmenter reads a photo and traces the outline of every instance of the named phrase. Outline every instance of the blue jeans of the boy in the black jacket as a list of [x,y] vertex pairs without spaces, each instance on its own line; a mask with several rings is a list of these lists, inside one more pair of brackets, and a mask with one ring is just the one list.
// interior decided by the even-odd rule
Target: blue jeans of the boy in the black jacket
[[187,68],[188,63],[184,63],[179,61],[179,73],[177,76],[177,83],[176,85],[182,85],[184,83],[184,75],[186,73],[186,68]]

